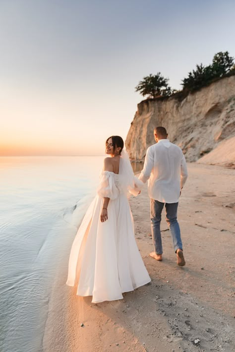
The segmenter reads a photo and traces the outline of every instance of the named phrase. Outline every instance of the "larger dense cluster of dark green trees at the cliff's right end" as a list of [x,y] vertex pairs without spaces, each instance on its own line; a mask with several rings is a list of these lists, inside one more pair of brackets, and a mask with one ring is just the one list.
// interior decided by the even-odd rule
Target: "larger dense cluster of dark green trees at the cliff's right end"
[[214,55],[211,65],[196,65],[196,69],[188,73],[188,77],[182,80],[183,89],[192,91],[204,87],[214,79],[234,74],[234,58],[228,52],[219,52]]

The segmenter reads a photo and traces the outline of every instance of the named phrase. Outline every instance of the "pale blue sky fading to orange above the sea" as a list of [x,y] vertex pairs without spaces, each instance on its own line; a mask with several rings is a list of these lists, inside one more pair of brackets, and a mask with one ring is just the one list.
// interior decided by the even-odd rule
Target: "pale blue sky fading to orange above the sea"
[[0,0],[0,155],[101,155],[134,87],[235,57],[233,0]]

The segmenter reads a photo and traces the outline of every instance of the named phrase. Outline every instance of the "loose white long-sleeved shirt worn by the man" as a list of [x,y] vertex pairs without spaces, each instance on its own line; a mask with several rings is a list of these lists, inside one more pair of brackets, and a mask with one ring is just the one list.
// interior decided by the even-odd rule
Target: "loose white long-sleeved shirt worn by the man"
[[176,144],[169,139],[160,139],[147,149],[139,179],[148,180],[150,198],[162,203],[177,203],[186,178],[186,161]]

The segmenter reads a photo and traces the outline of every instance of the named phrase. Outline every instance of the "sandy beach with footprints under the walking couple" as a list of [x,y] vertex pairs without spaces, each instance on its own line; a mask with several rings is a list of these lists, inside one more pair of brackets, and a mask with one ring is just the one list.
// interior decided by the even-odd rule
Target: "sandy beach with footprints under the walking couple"
[[178,208],[186,266],[176,266],[164,213],[163,261],[149,257],[146,185],[130,206],[151,285],[122,300],[93,304],[65,285],[67,263],[61,258],[43,351],[235,351],[235,170],[192,163],[188,174]]

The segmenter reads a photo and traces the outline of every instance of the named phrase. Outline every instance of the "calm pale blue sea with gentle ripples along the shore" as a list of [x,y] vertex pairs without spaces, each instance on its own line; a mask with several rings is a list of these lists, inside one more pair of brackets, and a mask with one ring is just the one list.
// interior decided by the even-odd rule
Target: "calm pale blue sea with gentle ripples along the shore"
[[[0,157],[0,351],[42,351],[53,279],[67,265],[103,157]],[[66,264],[64,264],[66,263]]]

